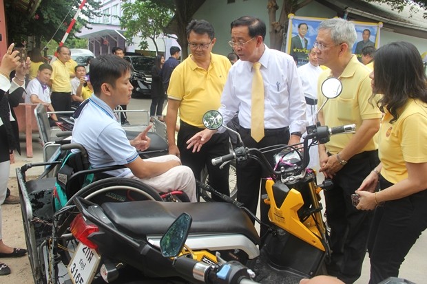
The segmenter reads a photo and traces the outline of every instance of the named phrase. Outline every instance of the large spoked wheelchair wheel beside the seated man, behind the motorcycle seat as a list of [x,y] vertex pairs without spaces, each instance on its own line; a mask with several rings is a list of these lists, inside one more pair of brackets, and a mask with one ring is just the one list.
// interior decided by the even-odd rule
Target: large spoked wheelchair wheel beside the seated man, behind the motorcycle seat
[[[105,202],[126,202],[140,200],[163,201],[162,197],[152,188],[143,182],[127,177],[110,177],[100,179],[79,190],[65,206],[74,204],[76,197],[84,197],[96,204]],[[60,226],[67,228],[70,225],[76,212],[66,212],[61,216]],[[59,226],[58,226],[59,227]],[[70,263],[74,251],[79,241],[74,239],[68,230],[65,230],[57,239],[57,251],[61,257],[63,265]],[[48,255],[51,255],[52,245],[48,245]]]

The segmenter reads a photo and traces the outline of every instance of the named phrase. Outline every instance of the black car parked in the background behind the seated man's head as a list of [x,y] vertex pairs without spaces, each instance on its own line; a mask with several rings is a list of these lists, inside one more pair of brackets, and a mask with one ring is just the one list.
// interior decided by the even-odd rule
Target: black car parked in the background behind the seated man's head
[[132,55],[124,57],[132,65],[131,83],[134,86],[132,98],[151,95],[152,67],[154,57]]

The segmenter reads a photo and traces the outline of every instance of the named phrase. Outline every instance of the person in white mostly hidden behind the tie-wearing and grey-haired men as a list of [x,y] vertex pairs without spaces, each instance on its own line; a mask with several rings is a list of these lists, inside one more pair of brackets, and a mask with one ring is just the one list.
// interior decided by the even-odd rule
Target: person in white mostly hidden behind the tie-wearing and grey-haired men
[[[307,103],[306,114],[309,124],[316,124],[317,122],[317,78],[319,78],[320,73],[322,73],[322,68],[319,67],[317,53],[313,47],[309,53],[309,63],[298,67],[298,75],[300,75],[302,90],[304,91],[304,97]],[[309,167],[319,168],[319,150],[317,146],[312,146],[309,153]]]

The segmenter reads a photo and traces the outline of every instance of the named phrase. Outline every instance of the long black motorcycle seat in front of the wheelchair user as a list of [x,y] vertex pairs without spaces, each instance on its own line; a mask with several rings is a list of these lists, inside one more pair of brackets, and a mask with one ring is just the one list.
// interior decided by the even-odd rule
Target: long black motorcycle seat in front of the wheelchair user
[[101,207],[117,228],[131,234],[165,234],[171,223],[186,212],[193,218],[189,234],[238,233],[260,243],[249,216],[233,204],[131,201],[107,202]]

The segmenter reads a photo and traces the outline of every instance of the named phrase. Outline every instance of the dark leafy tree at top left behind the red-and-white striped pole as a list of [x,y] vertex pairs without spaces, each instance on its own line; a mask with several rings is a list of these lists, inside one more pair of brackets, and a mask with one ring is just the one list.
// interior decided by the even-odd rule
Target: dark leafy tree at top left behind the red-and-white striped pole
[[[5,12],[8,24],[9,41],[27,41],[28,36],[34,36],[36,47],[41,47],[41,42],[51,39],[59,43],[63,38],[68,25],[72,21],[74,14],[81,0],[43,0],[40,2],[32,17],[17,8],[14,0],[5,0]],[[81,17],[76,20],[76,25],[70,32],[70,39],[79,32],[79,27],[87,27],[87,23],[99,16],[96,12],[101,6],[98,0],[87,0],[81,10]],[[82,17],[83,16],[83,17]]]

